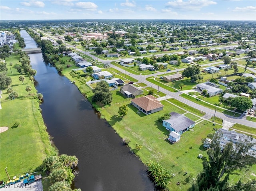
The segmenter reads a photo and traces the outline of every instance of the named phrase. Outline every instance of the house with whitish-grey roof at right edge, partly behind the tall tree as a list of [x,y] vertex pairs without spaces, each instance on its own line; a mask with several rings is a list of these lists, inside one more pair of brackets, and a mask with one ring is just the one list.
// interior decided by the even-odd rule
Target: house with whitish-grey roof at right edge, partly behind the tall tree
[[253,146],[248,150],[248,155],[256,157],[256,139],[251,138],[248,135],[241,134],[235,131],[229,131],[223,128],[218,129],[218,132],[221,133],[222,137],[220,138],[220,148],[223,150],[226,146],[227,143],[232,142],[233,147],[236,146],[237,143],[239,142],[244,142],[245,140],[248,140],[253,144]]

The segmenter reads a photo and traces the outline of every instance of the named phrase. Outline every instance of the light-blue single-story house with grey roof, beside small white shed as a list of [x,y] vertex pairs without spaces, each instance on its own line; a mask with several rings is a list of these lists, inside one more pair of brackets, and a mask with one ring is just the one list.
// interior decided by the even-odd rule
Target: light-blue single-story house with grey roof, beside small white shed
[[170,118],[163,120],[162,123],[166,130],[169,130],[170,132],[174,131],[181,135],[182,133],[195,126],[194,121],[190,120],[182,114],[178,114],[176,112],[171,112],[170,114]]

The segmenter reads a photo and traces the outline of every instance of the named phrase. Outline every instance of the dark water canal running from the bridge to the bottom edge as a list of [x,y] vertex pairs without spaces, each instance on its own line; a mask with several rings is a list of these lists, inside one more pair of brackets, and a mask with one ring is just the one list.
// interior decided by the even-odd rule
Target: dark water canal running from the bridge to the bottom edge
[[[25,48],[37,47],[24,30]],[[29,40],[30,39],[30,40]],[[78,158],[80,174],[74,187],[83,191],[154,191],[145,165],[124,146],[106,120],[55,67],[44,63],[42,53],[30,54],[36,89],[42,93],[42,116],[60,154]]]

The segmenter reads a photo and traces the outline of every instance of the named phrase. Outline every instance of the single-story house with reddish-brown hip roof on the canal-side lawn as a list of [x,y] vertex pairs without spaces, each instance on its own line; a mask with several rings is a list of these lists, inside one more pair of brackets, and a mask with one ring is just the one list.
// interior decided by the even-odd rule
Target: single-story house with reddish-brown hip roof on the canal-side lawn
[[146,115],[163,110],[164,107],[161,102],[156,100],[152,95],[134,98],[131,100],[131,104]]

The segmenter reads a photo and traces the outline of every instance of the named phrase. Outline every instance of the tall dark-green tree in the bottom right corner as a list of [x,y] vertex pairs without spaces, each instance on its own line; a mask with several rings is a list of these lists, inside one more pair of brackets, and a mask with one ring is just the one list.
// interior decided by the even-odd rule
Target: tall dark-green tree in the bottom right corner
[[202,158],[203,171],[198,174],[196,183],[188,191],[228,191],[229,175],[256,163],[256,158],[247,155],[254,145],[249,136],[246,140],[237,141],[235,145],[228,142],[224,150],[220,147],[221,137],[220,131],[214,135],[207,151],[208,158]]

